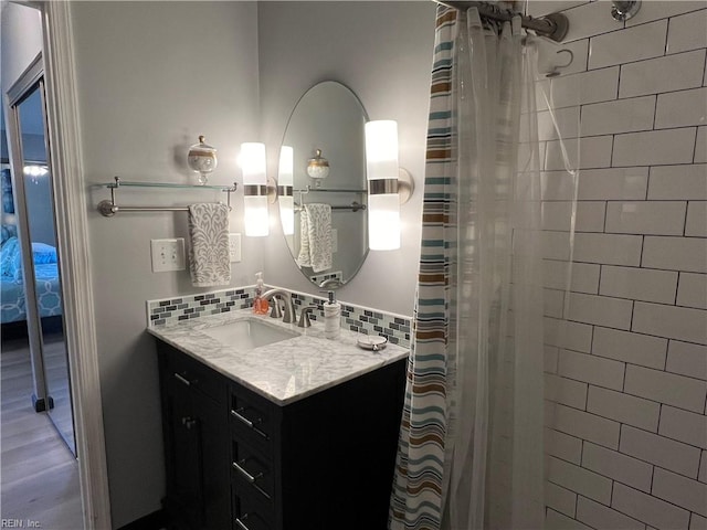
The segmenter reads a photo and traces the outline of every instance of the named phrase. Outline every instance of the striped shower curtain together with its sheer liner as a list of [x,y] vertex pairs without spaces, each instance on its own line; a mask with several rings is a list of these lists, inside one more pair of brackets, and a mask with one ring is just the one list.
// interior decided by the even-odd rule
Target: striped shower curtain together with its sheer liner
[[488,25],[474,8],[437,8],[422,248],[390,530],[544,524],[531,53],[518,18]]

